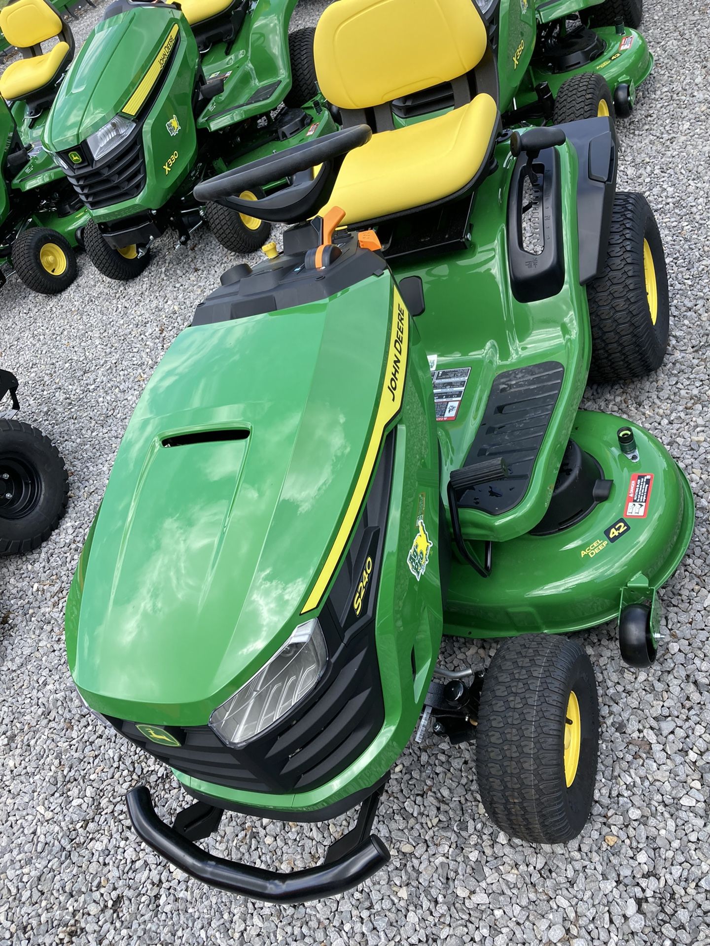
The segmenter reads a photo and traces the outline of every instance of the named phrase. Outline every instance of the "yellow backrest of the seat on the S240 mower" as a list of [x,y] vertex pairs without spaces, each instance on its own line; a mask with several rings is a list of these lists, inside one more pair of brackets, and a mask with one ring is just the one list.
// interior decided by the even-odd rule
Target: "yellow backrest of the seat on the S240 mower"
[[369,109],[466,75],[487,45],[472,0],[338,0],[315,31],[315,71],[333,105]]

